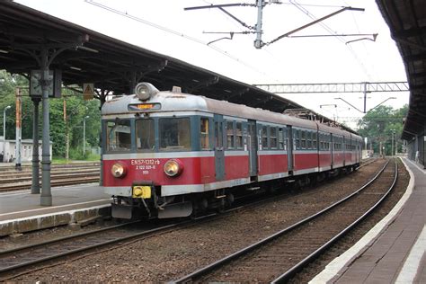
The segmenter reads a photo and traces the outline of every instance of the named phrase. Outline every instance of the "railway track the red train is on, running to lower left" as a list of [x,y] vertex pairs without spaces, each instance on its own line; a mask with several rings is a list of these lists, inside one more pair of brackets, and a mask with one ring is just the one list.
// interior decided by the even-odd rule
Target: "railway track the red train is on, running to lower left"
[[[211,221],[214,218],[226,217],[228,213],[232,214],[238,210],[253,210],[255,207],[262,206],[263,203],[271,202],[271,200],[277,200],[277,198],[280,198],[280,196],[274,196],[245,206],[240,205],[234,209],[226,210],[220,215],[210,214],[180,223],[167,223],[162,226],[153,224],[151,226],[140,226],[142,223],[125,224],[3,251],[0,252],[0,281],[40,270],[46,265],[56,265],[64,258],[66,260],[69,257],[79,258],[82,255],[90,255],[93,250],[94,253],[98,253],[99,250],[103,251],[105,247],[108,249],[114,244],[114,248],[120,245],[128,245],[133,240],[138,241],[144,236],[162,234],[164,230],[177,230],[186,226],[199,225],[202,220]],[[169,220],[169,222],[171,221]]]

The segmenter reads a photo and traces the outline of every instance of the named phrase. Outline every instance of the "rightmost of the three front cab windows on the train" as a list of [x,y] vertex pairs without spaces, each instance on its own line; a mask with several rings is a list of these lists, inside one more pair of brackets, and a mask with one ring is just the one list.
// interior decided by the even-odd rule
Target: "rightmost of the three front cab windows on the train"
[[189,118],[159,120],[160,150],[191,150],[191,123]]

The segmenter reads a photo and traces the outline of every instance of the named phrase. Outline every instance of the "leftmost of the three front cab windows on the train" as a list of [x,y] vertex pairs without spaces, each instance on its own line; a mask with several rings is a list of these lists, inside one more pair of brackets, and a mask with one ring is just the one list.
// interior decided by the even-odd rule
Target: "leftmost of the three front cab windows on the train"
[[108,121],[107,152],[129,152],[131,149],[130,120]]

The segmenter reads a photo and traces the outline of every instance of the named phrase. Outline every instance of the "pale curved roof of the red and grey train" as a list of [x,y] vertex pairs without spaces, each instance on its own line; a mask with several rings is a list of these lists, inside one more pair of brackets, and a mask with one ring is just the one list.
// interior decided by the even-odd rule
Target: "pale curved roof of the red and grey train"
[[[246,120],[268,121],[277,124],[292,125],[306,129],[320,129],[325,132],[333,133],[350,137],[350,133],[336,129],[314,120],[304,120],[296,117],[288,116],[273,111],[265,111],[262,109],[255,109],[245,106],[243,104],[236,104],[233,102],[218,101],[200,95],[193,95],[189,93],[175,93],[175,92],[159,92],[156,93],[146,102],[141,102],[136,94],[124,95],[115,97],[111,101],[105,102],[102,106],[102,116],[113,115],[129,115],[133,111],[129,111],[129,105],[140,103],[153,103],[160,104],[161,110],[154,111],[140,111],[140,112],[173,112],[173,111],[201,111],[207,113],[217,113],[225,116],[243,118]],[[138,111],[135,111],[138,112]]]

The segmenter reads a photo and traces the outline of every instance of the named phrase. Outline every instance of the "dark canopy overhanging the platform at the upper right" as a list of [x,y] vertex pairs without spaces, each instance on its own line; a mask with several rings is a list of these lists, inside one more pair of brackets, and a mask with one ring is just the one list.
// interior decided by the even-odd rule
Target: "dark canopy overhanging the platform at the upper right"
[[426,128],[426,8],[423,0],[376,0],[404,60],[410,104],[403,139]]

